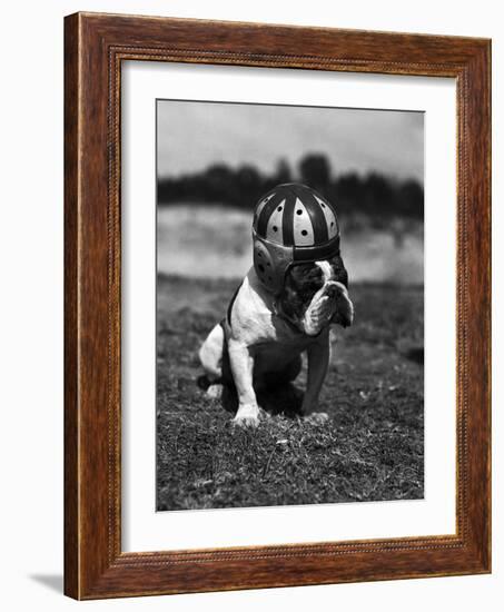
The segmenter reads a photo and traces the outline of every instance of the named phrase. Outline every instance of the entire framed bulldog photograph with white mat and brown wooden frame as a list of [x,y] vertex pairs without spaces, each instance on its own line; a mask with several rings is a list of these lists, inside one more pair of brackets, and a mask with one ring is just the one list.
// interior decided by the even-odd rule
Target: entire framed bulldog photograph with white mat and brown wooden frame
[[490,572],[490,41],[65,46],[66,593]]

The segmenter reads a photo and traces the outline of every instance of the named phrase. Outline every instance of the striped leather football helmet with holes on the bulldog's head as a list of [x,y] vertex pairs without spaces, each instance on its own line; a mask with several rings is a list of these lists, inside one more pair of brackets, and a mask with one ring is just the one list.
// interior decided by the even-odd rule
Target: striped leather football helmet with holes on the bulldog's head
[[254,268],[274,295],[295,264],[339,255],[339,226],[333,206],[299,182],[278,185],[256,205],[253,225]]

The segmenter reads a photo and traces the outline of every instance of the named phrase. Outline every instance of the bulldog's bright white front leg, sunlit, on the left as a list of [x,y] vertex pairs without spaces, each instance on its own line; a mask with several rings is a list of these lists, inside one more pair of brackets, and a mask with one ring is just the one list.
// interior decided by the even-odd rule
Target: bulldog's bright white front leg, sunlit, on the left
[[234,422],[244,427],[256,427],[259,406],[254,391],[254,357],[247,346],[235,339],[229,339],[228,354],[238,393],[238,412]]

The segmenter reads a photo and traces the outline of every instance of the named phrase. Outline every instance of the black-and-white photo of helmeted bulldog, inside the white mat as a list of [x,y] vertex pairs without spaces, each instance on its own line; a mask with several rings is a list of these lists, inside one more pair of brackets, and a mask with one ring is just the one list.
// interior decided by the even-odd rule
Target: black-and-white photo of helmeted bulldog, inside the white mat
[[158,511],[424,496],[424,113],[157,100]]

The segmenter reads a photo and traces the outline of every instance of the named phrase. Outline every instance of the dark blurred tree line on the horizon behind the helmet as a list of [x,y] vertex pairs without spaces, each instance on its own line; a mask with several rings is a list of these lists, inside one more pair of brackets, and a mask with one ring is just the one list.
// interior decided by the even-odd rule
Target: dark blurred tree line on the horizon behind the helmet
[[374,226],[383,226],[391,219],[407,223],[424,218],[424,189],[417,180],[399,181],[376,172],[366,176],[350,172],[334,178],[330,164],[322,154],[306,155],[296,176],[289,165],[280,160],[269,175],[249,165],[235,170],[225,164],[216,164],[201,172],[161,178],[158,181],[158,203],[204,201],[248,210],[276,185],[294,180],[316,189],[334,203],[338,216],[347,220],[365,217]]

